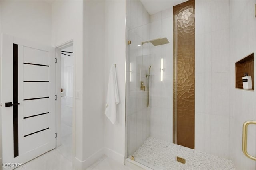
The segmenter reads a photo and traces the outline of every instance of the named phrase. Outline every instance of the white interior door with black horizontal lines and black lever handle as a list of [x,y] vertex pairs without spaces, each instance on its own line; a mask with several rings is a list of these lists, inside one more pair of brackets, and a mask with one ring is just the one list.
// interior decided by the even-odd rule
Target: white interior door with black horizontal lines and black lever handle
[[54,55],[52,47],[2,35],[4,170],[55,147]]

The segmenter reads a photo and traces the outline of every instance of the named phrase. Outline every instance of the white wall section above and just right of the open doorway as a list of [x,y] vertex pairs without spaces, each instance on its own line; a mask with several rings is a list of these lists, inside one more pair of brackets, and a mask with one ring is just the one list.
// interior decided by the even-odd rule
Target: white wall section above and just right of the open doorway
[[73,125],[76,130],[74,163],[81,168],[84,161],[83,139],[83,1],[55,1],[52,3],[52,46],[74,40],[74,90],[80,98],[73,100]]

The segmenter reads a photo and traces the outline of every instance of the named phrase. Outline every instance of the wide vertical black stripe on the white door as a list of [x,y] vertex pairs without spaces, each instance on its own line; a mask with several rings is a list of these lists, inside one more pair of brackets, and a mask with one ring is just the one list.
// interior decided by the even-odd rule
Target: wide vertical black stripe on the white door
[[[18,103],[18,44],[13,44],[13,103]],[[13,155],[19,156],[18,105],[13,105]]]

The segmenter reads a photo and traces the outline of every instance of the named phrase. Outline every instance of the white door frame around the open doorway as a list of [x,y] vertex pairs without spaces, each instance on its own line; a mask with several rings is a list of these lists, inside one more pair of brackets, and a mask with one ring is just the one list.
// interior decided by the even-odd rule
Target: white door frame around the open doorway
[[66,41],[60,42],[58,45],[56,45],[54,48],[56,49],[55,58],[57,59],[56,63],[56,147],[61,145],[61,94],[60,94],[60,88],[61,88],[61,49],[68,47],[73,44],[73,107],[72,107],[72,158],[75,157],[75,150],[76,150],[76,34],[73,35],[70,39],[67,39]]

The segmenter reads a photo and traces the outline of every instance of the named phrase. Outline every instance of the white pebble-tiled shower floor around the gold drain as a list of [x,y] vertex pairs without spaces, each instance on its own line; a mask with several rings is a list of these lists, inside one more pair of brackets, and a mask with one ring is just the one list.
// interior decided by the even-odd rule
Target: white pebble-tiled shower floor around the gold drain
[[[155,170],[235,170],[231,160],[149,137],[132,155]],[[186,164],[176,161],[186,159]]]

